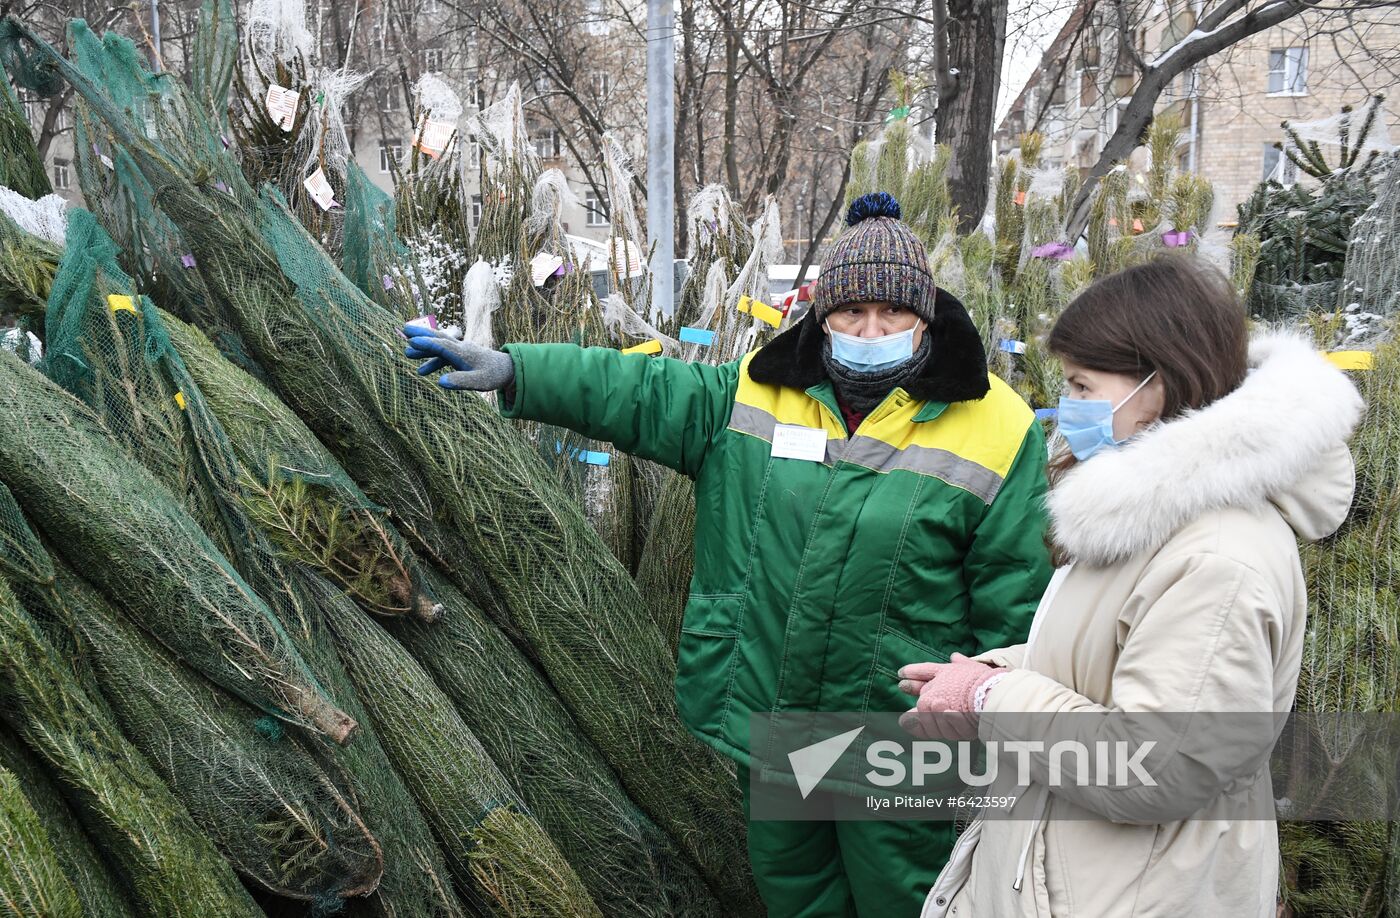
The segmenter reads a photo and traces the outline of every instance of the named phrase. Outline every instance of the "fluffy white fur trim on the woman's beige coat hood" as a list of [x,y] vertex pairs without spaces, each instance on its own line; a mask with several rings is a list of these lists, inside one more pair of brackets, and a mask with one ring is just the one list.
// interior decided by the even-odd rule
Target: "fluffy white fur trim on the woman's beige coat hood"
[[1070,557],[1113,564],[1156,551],[1204,514],[1266,502],[1301,539],[1337,530],[1351,507],[1345,444],[1361,395],[1298,336],[1259,336],[1249,355],[1235,392],[1064,474],[1047,507]]

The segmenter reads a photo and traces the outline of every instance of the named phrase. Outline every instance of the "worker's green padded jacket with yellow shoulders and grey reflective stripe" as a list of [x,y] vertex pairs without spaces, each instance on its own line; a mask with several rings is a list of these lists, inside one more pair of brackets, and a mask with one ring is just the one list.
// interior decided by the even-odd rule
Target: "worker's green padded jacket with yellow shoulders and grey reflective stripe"
[[[1046,445],[1001,379],[953,403],[895,389],[848,431],[830,382],[753,381],[762,351],[713,367],[573,344],[505,350],[507,417],[694,479],[676,704],[739,763],[752,714],[904,711],[904,663],[1025,640],[1050,577]],[[774,458],[784,424],[825,431],[822,459]]]

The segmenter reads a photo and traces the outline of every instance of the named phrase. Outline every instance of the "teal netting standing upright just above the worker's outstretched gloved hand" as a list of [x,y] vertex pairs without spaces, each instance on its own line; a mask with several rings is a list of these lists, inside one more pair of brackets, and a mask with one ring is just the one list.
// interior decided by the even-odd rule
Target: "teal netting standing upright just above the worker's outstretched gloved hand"
[[396,235],[395,203],[353,160],[346,162],[340,269],[367,297],[412,319],[423,313],[424,283],[417,259]]

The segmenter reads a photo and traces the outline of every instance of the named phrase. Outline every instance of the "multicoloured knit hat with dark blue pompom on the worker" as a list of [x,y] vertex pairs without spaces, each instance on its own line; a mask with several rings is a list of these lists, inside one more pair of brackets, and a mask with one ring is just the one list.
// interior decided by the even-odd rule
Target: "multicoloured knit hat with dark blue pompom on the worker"
[[932,322],[938,287],[928,273],[928,253],[899,218],[893,195],[861,195],[851,202],[846,225],[812,285],[818,320],[850,302],[892,302]]

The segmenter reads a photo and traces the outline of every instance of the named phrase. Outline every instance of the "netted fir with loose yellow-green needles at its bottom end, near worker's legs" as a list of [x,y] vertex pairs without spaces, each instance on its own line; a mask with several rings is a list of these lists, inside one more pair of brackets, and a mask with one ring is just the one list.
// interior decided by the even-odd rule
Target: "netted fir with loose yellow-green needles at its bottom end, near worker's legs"
[[308,577],[385,750],[459,889],[503,915],[602,912],[433,679],[330,584]]

